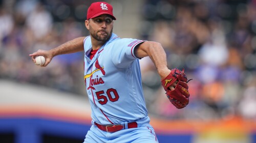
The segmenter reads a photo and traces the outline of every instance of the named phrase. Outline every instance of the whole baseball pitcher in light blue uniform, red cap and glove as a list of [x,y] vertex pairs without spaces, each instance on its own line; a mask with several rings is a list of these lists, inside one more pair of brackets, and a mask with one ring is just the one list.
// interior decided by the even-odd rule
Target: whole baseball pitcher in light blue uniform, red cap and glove
[[161,44],[119,38],[113,33],[114,20],[110,4],[93,3],[84,23],[90,36],[30,56],[34,62],[36,56],[45,56],[42,66],[47,66],[56,55],[84,51],[84,81],[92,110],[92,126],[84,142],[158,142],[147,114],[139,60],[150,56],[167,98],[177,108],[188,104],[187,78],[184,70],[167,68]]

